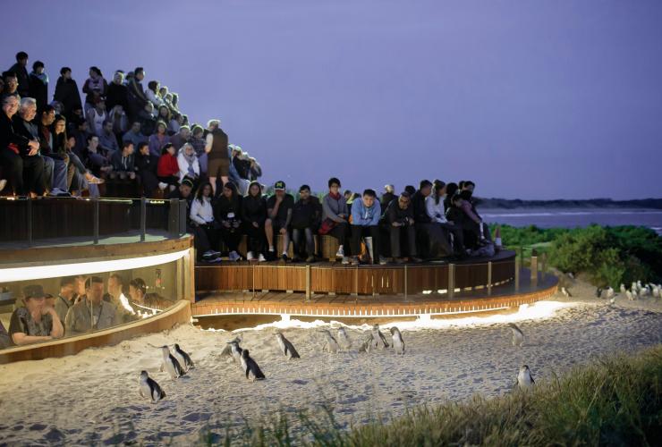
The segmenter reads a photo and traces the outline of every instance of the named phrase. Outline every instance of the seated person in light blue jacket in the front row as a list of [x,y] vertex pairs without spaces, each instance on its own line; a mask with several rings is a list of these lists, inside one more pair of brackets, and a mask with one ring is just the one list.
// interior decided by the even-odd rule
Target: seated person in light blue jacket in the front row
[[[381,217],[381,206],[374,190],[364,190],[363,196],[352,203],[352,264],[359,264],[358,253],[361,252],[361,238],[372,238],[372,253],[369,262],[374,264],[379,259],[379,264],[386,264],[386,258],[379,251],[379,219]],[[369,244],[366,244],[369,245]]]

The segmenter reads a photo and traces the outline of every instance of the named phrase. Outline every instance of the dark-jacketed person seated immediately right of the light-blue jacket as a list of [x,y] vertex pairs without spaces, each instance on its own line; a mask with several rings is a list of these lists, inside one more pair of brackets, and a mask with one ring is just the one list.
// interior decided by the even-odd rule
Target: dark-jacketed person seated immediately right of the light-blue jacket
[[388,229],[391,240],[391,257],[395,262],[402,264],[404,262],[401,240],[407,241],[408,257],[413,262],[420,262],[416,251],[416,230],[414,229],[414,215],[412,198],[407,192],[400,194],[399,198],[391,200],[386,207],[382,217],[386,228]]

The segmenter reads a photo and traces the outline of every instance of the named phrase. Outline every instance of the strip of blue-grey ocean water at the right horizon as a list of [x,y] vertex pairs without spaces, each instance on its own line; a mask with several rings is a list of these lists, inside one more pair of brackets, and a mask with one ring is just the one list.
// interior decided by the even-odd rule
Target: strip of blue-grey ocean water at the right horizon
[[662,235],[662,210],[625,208],[479,208],[488,223],[513,226],[536,225],[540,228],[576,228],[591,223],[599,225],[647,226]]

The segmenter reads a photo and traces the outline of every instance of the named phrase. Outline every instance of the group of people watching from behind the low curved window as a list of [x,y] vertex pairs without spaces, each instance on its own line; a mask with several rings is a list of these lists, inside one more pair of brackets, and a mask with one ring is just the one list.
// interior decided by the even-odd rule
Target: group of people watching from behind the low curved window
[[64,277],[55,294],[47,293],[40,284],[30,284],[23,288],[9,331],[0,323],[0,349],[130,323],[171,304],[148,293],[142,279],[125,283],[120,274],[111,274],[107,284],[100,276]]

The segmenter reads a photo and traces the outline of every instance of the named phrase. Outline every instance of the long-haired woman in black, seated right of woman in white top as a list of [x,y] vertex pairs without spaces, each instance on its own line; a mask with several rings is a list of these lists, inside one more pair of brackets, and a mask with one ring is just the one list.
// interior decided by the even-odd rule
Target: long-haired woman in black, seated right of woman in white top
[[223,193],[216,198],[213,208],[216,222],[220,223],[221,238],[229,250],[228,257],[238,261],[242,258],[237,251],[242,239],[242,197],[232,181],[223,185]]

